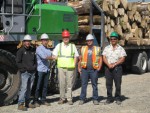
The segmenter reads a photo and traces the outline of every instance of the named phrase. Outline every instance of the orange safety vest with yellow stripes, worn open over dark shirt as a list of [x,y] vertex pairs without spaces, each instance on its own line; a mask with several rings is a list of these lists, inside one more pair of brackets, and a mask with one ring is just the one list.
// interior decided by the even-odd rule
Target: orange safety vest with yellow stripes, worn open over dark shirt
[[[81,67],[86,68],[87,67],[87,57],[88,57],[88,46],[83,46],[81,48]],[[99,68],[100,64],[100,47],[93,46],[92,50],[92,64],[94,69]]]

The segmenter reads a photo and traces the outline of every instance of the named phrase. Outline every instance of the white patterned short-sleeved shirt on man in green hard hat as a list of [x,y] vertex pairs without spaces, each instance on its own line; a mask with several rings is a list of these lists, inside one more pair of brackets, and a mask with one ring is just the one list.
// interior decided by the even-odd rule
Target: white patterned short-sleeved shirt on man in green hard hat
[[104,48],[102,55],[106,56],[109,64],[116,63],[121,57],[127,56],[123,47],[117,44],[116,48],[110,44]]

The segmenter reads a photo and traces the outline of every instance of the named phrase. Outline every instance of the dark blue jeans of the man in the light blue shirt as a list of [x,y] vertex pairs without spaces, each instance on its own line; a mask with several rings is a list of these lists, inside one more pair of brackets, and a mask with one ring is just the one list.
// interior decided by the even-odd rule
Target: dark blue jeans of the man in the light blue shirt
[[46,100],[46,95],[47,95],[47,85],[48,85],[48,79],[49,79],[50,72],[39,72],[38,71],[38,82],[36,86],[36,91],[35,91],[35,99],[38,100],[40,97],[40,91],[42,91],[41,94],[41,101]]

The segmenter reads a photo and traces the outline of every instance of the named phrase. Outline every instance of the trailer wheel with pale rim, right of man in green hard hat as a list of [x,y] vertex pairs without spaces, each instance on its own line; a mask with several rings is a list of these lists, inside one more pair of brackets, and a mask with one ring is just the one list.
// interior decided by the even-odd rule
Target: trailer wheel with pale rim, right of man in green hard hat
[[148,57],[146,52],[139,52],[132,57],[132,71],[136,74],[143,74],[147,71]]

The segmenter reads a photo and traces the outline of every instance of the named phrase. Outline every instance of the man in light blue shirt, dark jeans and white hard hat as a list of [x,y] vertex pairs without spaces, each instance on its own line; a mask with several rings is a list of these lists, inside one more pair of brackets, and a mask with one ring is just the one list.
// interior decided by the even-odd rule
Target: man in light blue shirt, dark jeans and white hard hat
[[[36,49],[37,71],[38,71],[38,82],[35,91],[36,107],[39,107],[40,104],[47,105],[47,106],[50,105],[50,103],[46,101],[47,85],[48,85],[48,79],[50,75],[49,60],[52,59],[52,52],[49,48],[47,48],[49,36],[45,33],[42,34],[41,41],[42,41],[42,45],[38,46]],[[40,90],[42,91],[41,100],[39,100],[40,93],[41,93]]]

